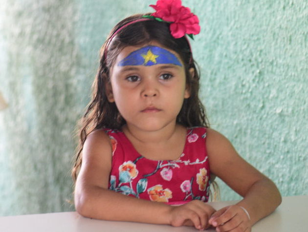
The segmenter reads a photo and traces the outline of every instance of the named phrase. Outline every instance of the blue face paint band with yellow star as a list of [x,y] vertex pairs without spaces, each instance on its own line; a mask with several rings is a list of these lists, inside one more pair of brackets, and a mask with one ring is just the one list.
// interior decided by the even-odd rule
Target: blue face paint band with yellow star
[[151,66],[155,64],[175,64],[182,66],[179,60],[170,51],[156,46],[142,47],[130,53],[126,58],[118,63],[118,66],[127,65],[145,65]]

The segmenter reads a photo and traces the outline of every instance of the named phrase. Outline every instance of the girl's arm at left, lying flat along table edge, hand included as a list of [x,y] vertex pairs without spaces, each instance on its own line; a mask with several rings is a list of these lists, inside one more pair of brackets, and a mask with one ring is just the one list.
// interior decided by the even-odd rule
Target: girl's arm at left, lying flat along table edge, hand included
[[75,185],[76,210],[83,216],[203,229],[214,209],[201,201],[173,207],[108,190],[111,144],[103,130],[92,132],[84,145],[83,162]]

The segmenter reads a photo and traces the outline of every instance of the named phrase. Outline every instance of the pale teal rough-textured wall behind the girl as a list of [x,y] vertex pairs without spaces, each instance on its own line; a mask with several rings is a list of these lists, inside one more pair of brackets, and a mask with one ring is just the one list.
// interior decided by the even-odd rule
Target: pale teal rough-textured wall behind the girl
[[[0,4],[0,215],[70,211],[72,137],[112,26],[152,0]],[[277,184],[308,194],[308,3],[183,0],[213,128]],[[239,196],[219,181],[223,200]]]

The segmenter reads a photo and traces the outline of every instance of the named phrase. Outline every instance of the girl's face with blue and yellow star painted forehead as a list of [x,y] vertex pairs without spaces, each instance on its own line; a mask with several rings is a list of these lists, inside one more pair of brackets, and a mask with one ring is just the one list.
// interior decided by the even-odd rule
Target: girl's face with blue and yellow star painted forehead
[[175,125],[184,98],[190,96],[184,64],[157,42],[125,47],[111,67],[106,90],[127,126],[145,131]]

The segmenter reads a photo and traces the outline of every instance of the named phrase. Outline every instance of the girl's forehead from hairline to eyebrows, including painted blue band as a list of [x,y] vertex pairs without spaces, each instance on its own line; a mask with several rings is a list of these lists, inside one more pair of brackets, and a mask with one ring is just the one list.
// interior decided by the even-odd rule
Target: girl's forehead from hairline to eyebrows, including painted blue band
[[144,46],[127,46],[119,53],[116,66],[155,64],[174,64],[182,66],[179,56],[175,51],[166,49],[159,44],[147,44]]

